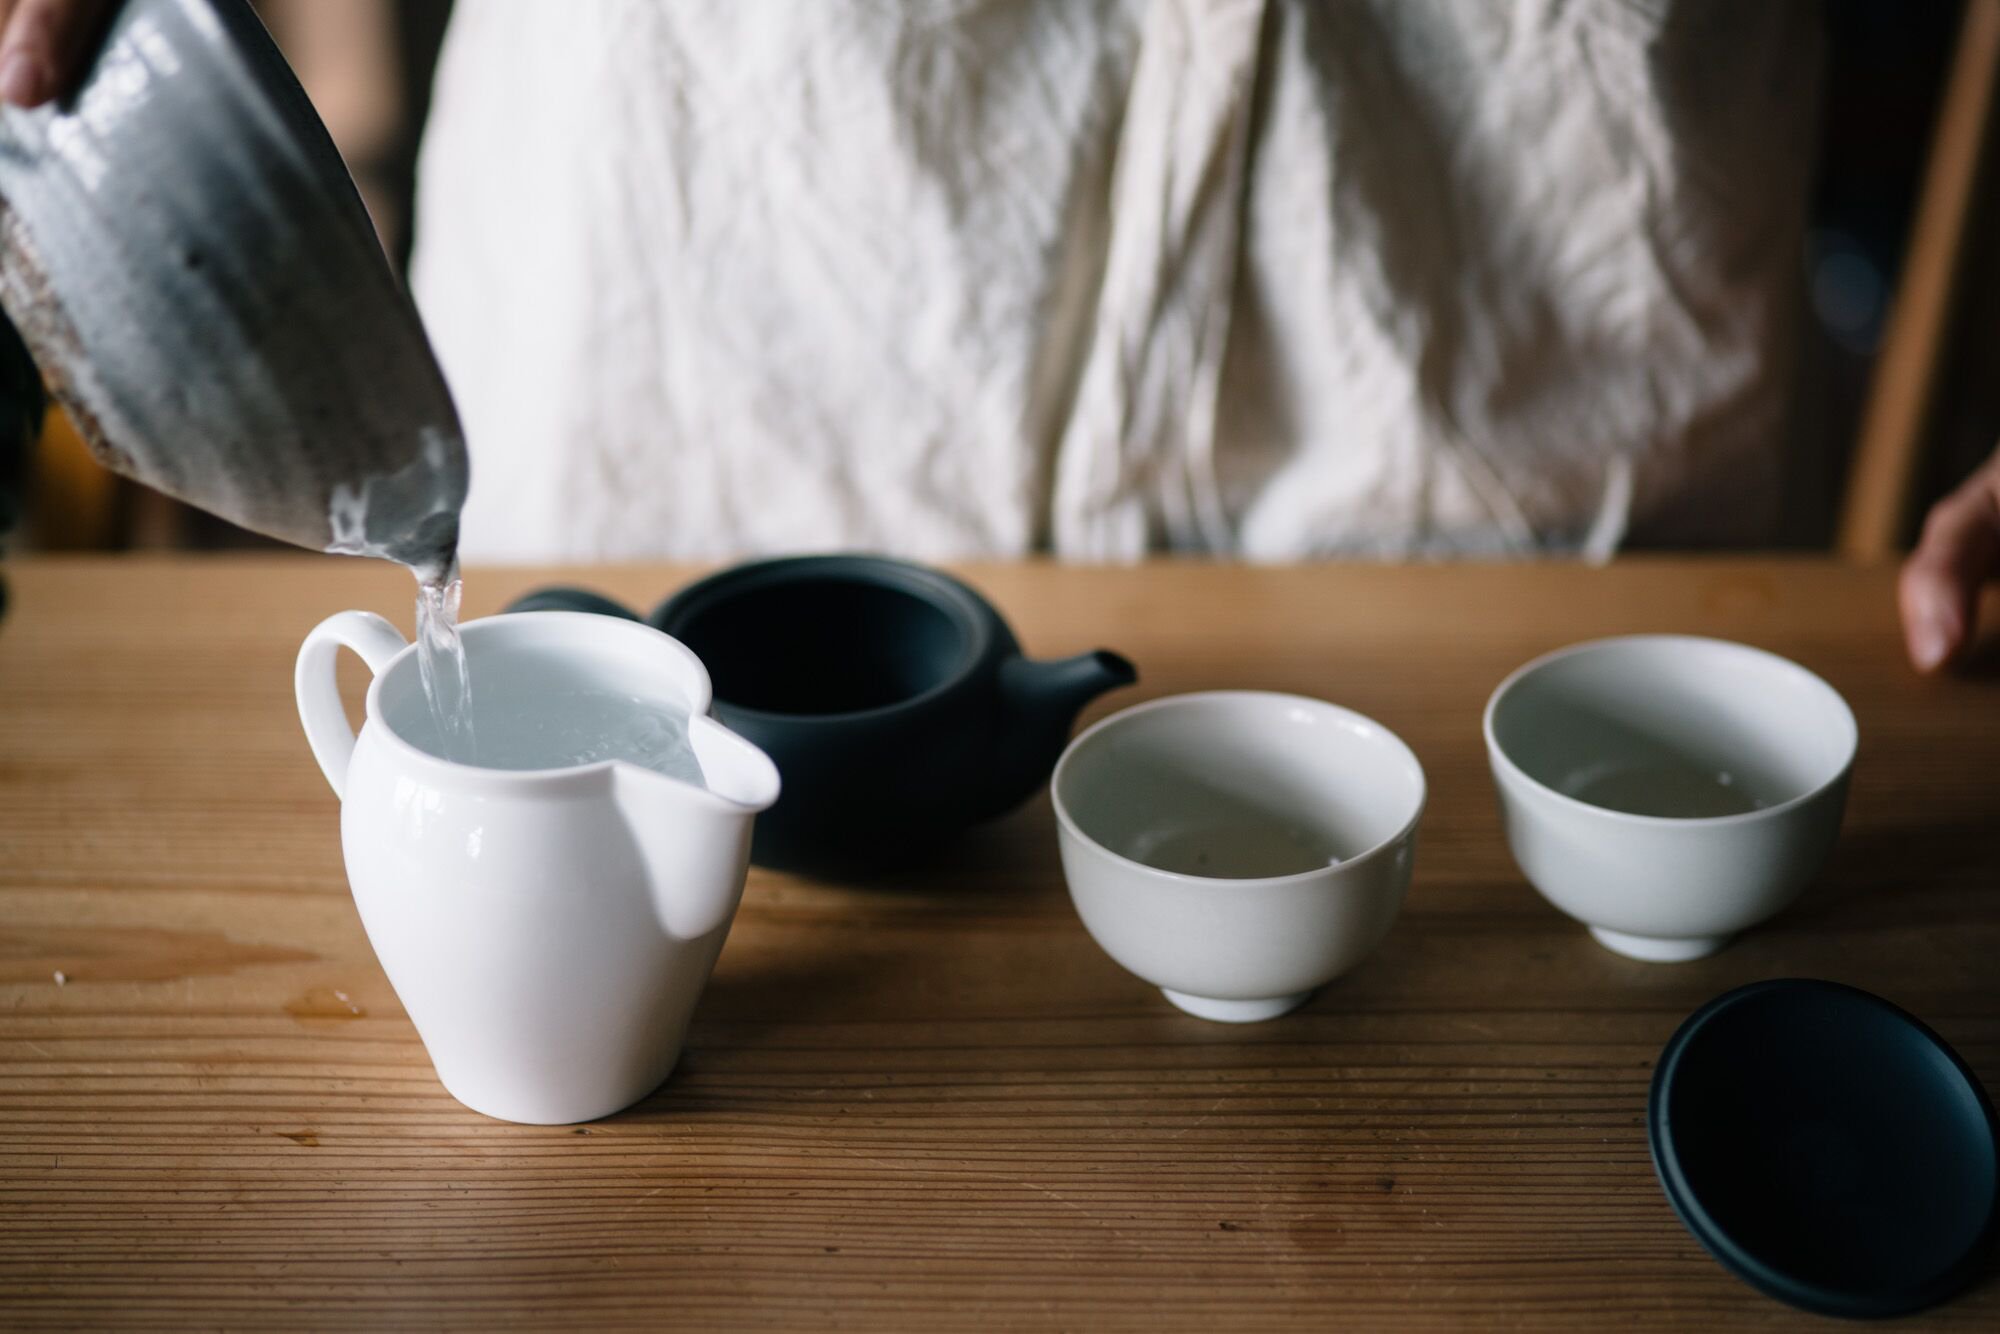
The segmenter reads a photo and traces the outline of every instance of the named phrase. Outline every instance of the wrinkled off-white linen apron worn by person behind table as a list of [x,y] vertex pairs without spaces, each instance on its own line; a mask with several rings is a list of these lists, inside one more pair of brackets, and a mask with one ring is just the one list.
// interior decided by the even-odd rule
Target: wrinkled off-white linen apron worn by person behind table
[[1756,540],[1808,6],[458,0],[470,560]]

